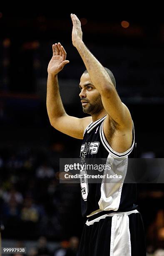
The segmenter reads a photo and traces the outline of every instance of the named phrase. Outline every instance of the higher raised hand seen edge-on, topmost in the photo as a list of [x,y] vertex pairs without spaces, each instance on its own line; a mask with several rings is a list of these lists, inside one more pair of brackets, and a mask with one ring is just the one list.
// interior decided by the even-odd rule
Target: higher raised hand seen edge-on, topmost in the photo
[[77,18],[75,14],[71,13],[71,19],[73,23],[73,28],[72,28],[72,44],[73,46],[76,47],[76,44],[78,41],[82,41],[82,29],[81,29],[81,22]]

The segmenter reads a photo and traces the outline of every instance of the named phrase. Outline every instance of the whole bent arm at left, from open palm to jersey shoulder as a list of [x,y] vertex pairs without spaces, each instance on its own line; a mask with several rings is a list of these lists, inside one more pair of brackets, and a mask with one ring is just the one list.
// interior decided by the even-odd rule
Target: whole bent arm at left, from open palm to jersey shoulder
[[63,69],[66,60],[66,52],[60,43],[52,46],[53,56],[48,65],[47,79],[47,113],[51,125],[74,138],[83,138],[84,129],[92,122],[91,117],[75,118],[67,115],[62,104],[59,92],[57,74]]

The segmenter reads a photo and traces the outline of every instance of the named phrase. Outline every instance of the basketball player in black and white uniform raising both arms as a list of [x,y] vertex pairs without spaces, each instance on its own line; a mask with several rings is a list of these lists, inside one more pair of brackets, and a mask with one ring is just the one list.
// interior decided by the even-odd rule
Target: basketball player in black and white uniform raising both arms
[[[80,79],[82,110],[91,116],[67,115],[60,97],[57,74],[69,63],[64,47],[52,45],[48,65],[47,112],[51,125],[82,139],[80,157],[113,161],[124,177],[128,157],[134,156],[134,124],[116,91],[112,72],[104,68],[82,41],[80,20],[71,14],[72,43],[86,71]],[[117,160],[118,159],[118,160]],[[116,168],[116,170],[117,170]],[[113,169],[114,170],[114,169]],[[82,181],[83,180],[83,181]],[[142,217],[137,211],[136,186],[124,183],[89,183],[81,180],[82,215],[87,216],[78,256],[146,256]]]

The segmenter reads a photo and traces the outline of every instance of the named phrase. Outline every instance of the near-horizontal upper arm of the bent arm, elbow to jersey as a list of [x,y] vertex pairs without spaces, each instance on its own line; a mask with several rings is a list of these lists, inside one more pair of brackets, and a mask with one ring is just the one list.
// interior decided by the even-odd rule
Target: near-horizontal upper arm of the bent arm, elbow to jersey
[[85,128],[91,122],[91,117],[76,118],[74,116],[65,114],[52,120],[51,125],[58,131],[73,138],[82,139]]

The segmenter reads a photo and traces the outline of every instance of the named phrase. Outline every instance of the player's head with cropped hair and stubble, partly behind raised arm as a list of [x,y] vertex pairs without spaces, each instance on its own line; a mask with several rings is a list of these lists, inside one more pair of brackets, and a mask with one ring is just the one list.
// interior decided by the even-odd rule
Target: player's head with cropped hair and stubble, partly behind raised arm
[[[116,87],[116,81],[114,79],[114,75],[109,69],[107,68],[104,68],[104,69],[109,74],[109,77],[112,80],[114,87]],[[87,70],[85,70],[84,73],[82,74],[79,87],[81,90],[79,96],[81,98],[82,110],[84,113],[94,115],[104,109],[102,105],[101,95],[98,92],[98,90],[94,87],[94,84],[92,84],[92,81],[89,77]]]

